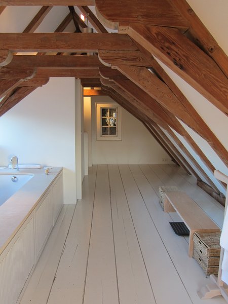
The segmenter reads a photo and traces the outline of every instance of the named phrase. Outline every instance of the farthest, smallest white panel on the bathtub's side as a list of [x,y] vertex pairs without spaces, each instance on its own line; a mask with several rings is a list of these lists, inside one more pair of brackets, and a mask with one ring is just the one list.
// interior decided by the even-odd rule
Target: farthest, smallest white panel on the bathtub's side
[[53,219],[54,224],[63,205],[63,174],[57,178],[53,184]]

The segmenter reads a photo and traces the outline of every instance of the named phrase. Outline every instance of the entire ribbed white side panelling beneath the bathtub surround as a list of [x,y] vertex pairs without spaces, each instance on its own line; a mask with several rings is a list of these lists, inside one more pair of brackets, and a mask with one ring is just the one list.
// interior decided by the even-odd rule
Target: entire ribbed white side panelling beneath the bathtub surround
[[41,199],[0,255],[0,303],[19,303],[63,205],[63,172],[47,185]]

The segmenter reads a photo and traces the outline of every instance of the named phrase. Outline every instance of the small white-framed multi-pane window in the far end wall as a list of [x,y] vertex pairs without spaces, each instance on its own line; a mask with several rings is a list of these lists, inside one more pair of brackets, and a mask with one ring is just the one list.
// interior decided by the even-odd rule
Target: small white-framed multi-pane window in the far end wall
[[121,140],[121,107],[117,103],[96,103],[97,140]]

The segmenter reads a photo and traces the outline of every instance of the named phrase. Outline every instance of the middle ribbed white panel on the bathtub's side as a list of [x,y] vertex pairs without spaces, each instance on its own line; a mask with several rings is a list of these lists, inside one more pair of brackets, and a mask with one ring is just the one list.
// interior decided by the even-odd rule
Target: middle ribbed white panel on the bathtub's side
[[35,246],[38,259],[53,227],[52,189],[35,208]]

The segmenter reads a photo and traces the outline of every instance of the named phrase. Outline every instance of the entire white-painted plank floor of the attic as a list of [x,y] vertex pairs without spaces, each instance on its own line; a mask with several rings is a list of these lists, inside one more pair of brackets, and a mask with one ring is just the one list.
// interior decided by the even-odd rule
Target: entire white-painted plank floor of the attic
[[222,225],[224,208],[175,165],[99,165],[83,200],[65,205],[21,304],[220,304],[201,300],[209,283],[188,240],[169,224],[159,186],[178,186]]

